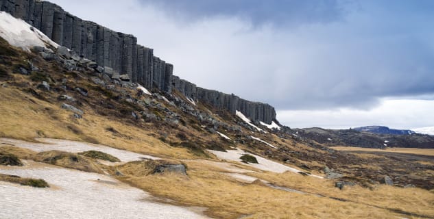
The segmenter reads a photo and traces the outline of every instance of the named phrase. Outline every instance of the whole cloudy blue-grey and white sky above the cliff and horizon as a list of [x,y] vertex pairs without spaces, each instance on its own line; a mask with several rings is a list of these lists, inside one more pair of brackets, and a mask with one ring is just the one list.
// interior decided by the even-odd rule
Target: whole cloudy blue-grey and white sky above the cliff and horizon
[[289,127],[434,126],[431,0],[51,0]]

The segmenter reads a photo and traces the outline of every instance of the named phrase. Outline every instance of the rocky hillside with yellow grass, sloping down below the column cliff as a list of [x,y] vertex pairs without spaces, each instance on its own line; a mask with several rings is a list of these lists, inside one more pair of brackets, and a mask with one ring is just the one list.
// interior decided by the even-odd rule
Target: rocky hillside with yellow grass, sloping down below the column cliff
[[[433,156],[335,151],[297,130],[269,129],[242,113],[193,102],[177,91],[147,90],[128,75],[100,70],[61,47],[45,44],[27,52],[0,38],[0,155],[25,165],[0,165],[1,174],[45,178],[53,188],[39,190],[50,195],[44,197],[71,191],[72,184],[95,192],[119,190],[123,182],[152,194],[152,202],[201,207],[211,218],[434,217],[428,191],[434,188]],[[82,155],[95,150],[121,162]],[[65,168],[96,171],[95,181],[71,183],[72,172],[81,172]],[[54,170],[68,175],[50,177]],[[385,185],[385,176],[396,186]],[[40,194],[0,183],[8,191]],[[2,201],[1,209],[23,209],[16,200]],[[38,203],[69,209],[68,202],[53,200],[39,197]],[[74,209],[77,214],[87,208]]]

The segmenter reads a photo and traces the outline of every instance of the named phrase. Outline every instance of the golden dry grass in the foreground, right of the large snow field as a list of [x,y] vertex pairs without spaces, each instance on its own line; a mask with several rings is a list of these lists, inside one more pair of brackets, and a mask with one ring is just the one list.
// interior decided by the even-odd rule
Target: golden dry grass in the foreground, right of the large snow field
[[[341,191],[333,182],[303,177],[293,173],[254,172],[248,175],[277,185],[323,194],[297,194],[275,190],[258,183],[239,183],[224,172],[210,168],[212,164],[186,161],[189,177],[180,175],[133,175],[121,177],[138,188],[169,198],[180,205],[207,207],[206,214],[215,218],[396,218],[409,217],[393,209],[434,217],[431,208],[434,194],[420,189],[379,186],[374,191],[358,186]],[[411,217],[418,218],[418,217]]]

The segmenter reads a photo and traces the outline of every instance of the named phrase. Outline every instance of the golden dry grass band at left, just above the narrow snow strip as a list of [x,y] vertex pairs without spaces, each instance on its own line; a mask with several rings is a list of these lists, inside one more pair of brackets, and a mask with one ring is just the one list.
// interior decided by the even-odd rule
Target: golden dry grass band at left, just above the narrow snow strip
[[[195,157],[186,149],[161,142],[151,131],[125,125],[117,120],[99,116],[83,107],[82,119],[71,118],[60,103],[40,101],[30,94],[0,87],[0,137],[35,141],[34,138],[58,138],[105,144],[148,155],[190,159]],[[128,138],[114,136],[106,129],[112,127]]]

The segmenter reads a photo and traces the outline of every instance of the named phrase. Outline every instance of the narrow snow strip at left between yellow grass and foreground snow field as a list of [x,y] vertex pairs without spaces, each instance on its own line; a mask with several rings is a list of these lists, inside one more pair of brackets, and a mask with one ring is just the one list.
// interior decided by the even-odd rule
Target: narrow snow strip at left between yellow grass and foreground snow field
[[91,151],[91,150],[101,151],[119,158],[121,162],[132,162],[141,159],[159,159],[158,157],[152,157],[150,155],[142,155],[140,153],[134,153],[131,151],[114,149],[109,146],[104,146],[100,144],[75,142],[70,140],[58,140],[58,139],[51,139],[51,138],[38,138],[37,140],[44,143],[25,142],[23,140],[0,138],[0,146],[2,145],[18,146],[36,152],[52,151],[52,150],[66,151],[70,153],[80,153],[83,151]]

